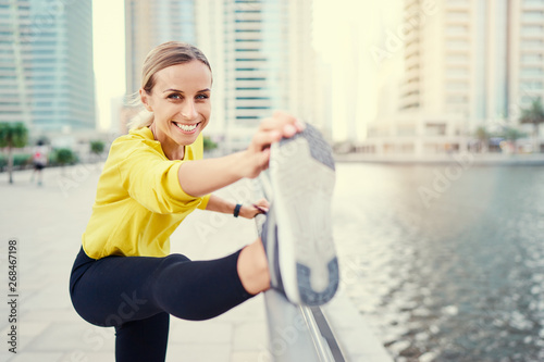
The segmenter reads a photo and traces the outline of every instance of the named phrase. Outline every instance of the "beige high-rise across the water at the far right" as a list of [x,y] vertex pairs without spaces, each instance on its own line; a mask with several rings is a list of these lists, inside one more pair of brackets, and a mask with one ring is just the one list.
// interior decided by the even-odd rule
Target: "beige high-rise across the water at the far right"
[[462,150],[544,98],[544,0],[406,0],[404,14],[398,110],[369,129],[379,152]]

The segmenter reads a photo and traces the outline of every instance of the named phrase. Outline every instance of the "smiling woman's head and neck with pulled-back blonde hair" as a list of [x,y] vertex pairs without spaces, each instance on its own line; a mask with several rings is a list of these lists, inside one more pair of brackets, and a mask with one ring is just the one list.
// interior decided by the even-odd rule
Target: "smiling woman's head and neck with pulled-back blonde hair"
[[[210,64],[197,48],[182,50],[168,42],[149,53],[139,90],[141,103],[152,112],[149,129],[171,160],[183,160],[185,146],[196,141],[211,114]],[[156,59],[160,61],[153,63]]]

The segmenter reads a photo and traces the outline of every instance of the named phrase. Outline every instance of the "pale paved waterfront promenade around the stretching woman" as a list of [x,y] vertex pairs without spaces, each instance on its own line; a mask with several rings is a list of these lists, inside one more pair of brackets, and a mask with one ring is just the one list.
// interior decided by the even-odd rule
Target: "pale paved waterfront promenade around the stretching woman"
[[[5,301],[0,307],[0,361],[114,361],[113,328],[84,322],[73,310],[67,291],[100,167],[46,168],[42,186],[30,183],[32,171],[16,172],[13,185],[0,173],[1,290],[5,300],[8,240],[14,238],[20,296],[16,354],[7,345],[10,311]],[[244,185],[223,190],[223,196],[245,195],[233,191],[236,187]],[[172,251],[194,260],[222,257],[254,240],[254,225],[252,221],[197,211],[172,236]],[[264,298],[257,296],[210,321],[172,317],[168,361],[273,361],[274,346],[289,348],[296,336],[269,344],[264,308]],[[343,291],[323,310],[347,361],[391,361]]]

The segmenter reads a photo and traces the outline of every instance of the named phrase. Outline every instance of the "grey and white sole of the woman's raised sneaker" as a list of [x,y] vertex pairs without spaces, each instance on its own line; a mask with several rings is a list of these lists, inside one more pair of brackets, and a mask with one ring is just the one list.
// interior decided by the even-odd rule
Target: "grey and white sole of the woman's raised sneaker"
[[296,240],[300,301],[320,305],[330,301],[338,287],[338,262],[331,228],[335,170],[332,150],[321,134],[308,125],[302,133],[282,140],[279,153],[275,179],[290,238]]

